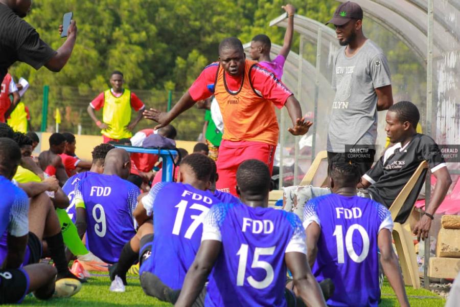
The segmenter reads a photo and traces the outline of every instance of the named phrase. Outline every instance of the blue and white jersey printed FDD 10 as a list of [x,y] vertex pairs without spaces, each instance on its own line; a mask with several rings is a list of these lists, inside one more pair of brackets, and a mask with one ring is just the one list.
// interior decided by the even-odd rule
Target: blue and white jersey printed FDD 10
[[392,215],[383,205],[359,196],[328,194],[304,208],[304,227],[321,228],[312,272],[318,281],[335,285],[329,306],[377,306],[380,297],[377,236],[393,230]]

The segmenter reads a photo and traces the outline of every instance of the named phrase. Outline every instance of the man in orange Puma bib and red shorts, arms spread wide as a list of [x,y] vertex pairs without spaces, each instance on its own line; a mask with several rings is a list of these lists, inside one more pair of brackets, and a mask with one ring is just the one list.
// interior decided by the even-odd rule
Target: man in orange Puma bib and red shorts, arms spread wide
[[196,101],[214,94],[224,122],[219,147],[217,189],[236,195],[236,171],[245,160],[258,159],[273,168],[279,127],[273,105],[286,106],[294,135],[307,133],[311,122],[302,117],[297,99],[273,73],[246,59],[238,38],[220,42],[219,62],[208,65],[168,113],[150,108],[144,117],[158,122],[155,129],[169,124]]

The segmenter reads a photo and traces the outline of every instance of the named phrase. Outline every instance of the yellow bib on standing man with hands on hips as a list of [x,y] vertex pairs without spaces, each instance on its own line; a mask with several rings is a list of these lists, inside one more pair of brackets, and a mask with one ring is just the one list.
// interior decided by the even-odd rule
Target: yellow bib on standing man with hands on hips
[[120,97],[113,96],[110,90],[104,92],[102,121],[110,125],[109,129],[101,131],[104,136],[115,140],[132,137],[131,131],[126,129],[131,121],[130,90],[124,90]]

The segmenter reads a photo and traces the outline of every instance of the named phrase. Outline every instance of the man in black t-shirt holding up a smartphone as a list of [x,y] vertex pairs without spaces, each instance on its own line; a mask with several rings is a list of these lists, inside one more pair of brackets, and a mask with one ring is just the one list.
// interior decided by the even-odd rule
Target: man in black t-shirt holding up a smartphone
[[[0,80],[16,61],[26,62],[37,70],[44,65],[50,71],[59,72],[72,54],[77,39],[75,20],[67,29],[67,39],[55,51],[22,20],[31,5],[32,0],[0,0]],[[62,32],[62,26],[59,31]]]

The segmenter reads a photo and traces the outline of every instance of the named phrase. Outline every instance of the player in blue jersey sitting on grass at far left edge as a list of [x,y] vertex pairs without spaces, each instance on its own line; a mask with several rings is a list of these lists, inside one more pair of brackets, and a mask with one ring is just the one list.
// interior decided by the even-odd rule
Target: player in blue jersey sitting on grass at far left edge
[[[26,259],[27,263],[33,263],[32,258],[38,260],[41,243],[38,237],[29,232],[29,199],[24,191],[10,181],[20,157],[20,149],[13,140],[0,138],[0,233],[7,236],[6,252],[2,252],[1,259],[3,266],[0,270],[0,302],[18,303],[29,292],[34,292],[39,299],[48,299],[55,291],[55,295],[59,297],[71,296],[80,290],[80,282],[61,278],[56,282],[55,289],[56,268],[46,264],[32,264],[21,268]],[[31,208],[30,214],[37,215],[31,217],[32,219],[39,217],[40,212],[34,210],[41,208]],[[41,222],[42,229],[43,224]],[[36,225],[39,224],[31,224],[31,227]],[[37,228],[36,231],[39,232],[40,229]],[[58,231],[60,232],[59,223]],[[73,291],[68,291],[67,284],[75,287],[72,288]]]

